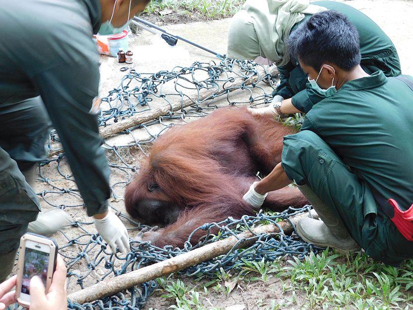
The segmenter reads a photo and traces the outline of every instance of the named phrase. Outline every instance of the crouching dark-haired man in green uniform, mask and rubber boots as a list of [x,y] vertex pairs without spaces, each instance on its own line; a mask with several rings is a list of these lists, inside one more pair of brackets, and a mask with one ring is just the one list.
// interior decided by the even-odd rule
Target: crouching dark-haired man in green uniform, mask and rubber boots
[[322,219],[298,223],[305,241],[361,247],[397,266],[413,257],[413,78],[368,75],[357,30],[337,11],[311,16],[289,44],[313,90],[326,98],[299,133],[285,136],[282,162],[244,200],[259,209],[265,193],[294,180]]

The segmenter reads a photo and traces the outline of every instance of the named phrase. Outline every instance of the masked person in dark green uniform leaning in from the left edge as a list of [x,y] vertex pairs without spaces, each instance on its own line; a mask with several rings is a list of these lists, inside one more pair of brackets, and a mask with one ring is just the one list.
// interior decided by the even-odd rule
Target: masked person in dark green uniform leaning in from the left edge
[[[97,111],[91,109],[100,79],[92,35],[119,32],[148,2],[25,0],[2,5],[0,282],[11,272],[19,239],[40,210],[30,183],[36,163],[47,155],[51,125],[98,232],[113,251],[116,246],[121,251],[129,248],[125,226],[108,212],[109,168]],[[53,226],[60,216],[48,217],[43,224]]]

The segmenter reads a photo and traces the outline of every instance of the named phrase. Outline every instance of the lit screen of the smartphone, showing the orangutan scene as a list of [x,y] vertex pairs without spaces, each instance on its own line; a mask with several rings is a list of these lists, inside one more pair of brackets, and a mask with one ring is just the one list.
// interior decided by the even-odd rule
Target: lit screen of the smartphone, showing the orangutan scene
[[49,253],[26,248],[23,277],[21,281],[21,293],[30,294],[30,280],[34,276],[39,276],[46,287],[48,265]]

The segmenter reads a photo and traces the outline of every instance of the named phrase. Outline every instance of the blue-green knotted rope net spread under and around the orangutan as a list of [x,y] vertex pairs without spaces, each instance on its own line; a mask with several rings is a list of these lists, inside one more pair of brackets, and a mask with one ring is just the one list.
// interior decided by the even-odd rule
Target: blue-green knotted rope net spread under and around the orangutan
[[[110,90],[103,98],[99,117],[100,125],[103,127],[134,115],[147,113],[161,105],[170,106],[164,115],[132,126],[120,132],[115,138],[106,139],[103,145],[111,168],[112,198],[109,206],[125,223],[131,237],[131,250],[124,256],[120,253],[111,253],[102,237],[97,234],[93,221],[86,217],[83,201],[64,154],[52,156],[39,165],[38,181],[42,182],[43,190],[38,196],[42,204],[65,209],[74,218],[70,227],[65,227],[53,235],[58,240],[59,253],[65,258],[68,266],[68,293],[103,279],[175,257],[206,243],[251,230],[259,224],[278,225],[278,221],[310,209],[310,206],[299,209],[290,207],[278,214],[260,212],[256,216],[243,216],[241,219],[229,217],[219,223],[207,223],[197,229],[204,230],[206,237],[196,244],[191,242],[192,235],[189,236],[183,249],[172,246],[158,248],[149,242],[132,239],[134,231],[150,227],[134,221],[126,214],[122,201],[123,192],[125,185],[139,172],[139,159],[148,153],[150,144],[170,126],[203,117],[220,106],[269,103],[277,76],[263,71],[263,68],[250,61],[221,60],[219,63],[195,62],[190,67],[175,67],[171,71],[157,73],[138,73],[131,69],[121,79],[120,85]],[[253,77],[257,78],[257,82],[248,85],[246,81]],[[234,82],[237,82],[236,86]],[[208,90],[213,90],[212,95],[204,98],[203,93]],[[184,107],[185,100],[191,100],[190,106]],[[176,109],[174,103],[175,106],[176,103],[180,103],[181,106]],[[56,150],[58,143],[59,137],[56,132],[52,132],[49,149]],[[211,229],[215,227],[219,229],[219,233],[214,236]],[[200,274],[214,277],[220,268],[237,268],[241,260],[273,261],[285,255],[303,257],[309,251],[316,252],[317,249],[311,248],[295,234],[263,234],[247,249],[233,249],[226,255],[203,262],[181,273],[190,277]],[[144,307],[156,286],[155,281],[150,281],[126,292],[119,292],[115,296],[84,305],[69,301],[68,309],[139,310]]]

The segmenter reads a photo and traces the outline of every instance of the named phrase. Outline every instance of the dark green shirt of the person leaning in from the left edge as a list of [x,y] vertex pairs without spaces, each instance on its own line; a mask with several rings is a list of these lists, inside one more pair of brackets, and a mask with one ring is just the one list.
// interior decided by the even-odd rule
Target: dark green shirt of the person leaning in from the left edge
[[107,209],[109,168],[97,116],[99,0],[7,1],[0,10],[0,104],[41,96],[88,215]]

